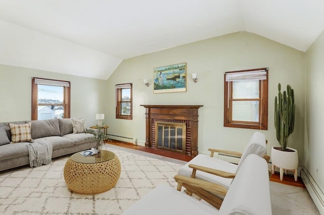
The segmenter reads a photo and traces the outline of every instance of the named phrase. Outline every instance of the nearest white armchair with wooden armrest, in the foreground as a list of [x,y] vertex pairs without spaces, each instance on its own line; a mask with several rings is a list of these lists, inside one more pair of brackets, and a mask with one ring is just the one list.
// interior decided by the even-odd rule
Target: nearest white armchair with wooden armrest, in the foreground
[[[175,176],[175,179],[179,183],[178,190],[186,183],[195,190],[220,195],[227,190],[219,184],[199,179],[183,176]],[[257,155],[249,155],[238,170],[219,210],[170,186],[159,185],[122,214],[272,214],[267,162]]]

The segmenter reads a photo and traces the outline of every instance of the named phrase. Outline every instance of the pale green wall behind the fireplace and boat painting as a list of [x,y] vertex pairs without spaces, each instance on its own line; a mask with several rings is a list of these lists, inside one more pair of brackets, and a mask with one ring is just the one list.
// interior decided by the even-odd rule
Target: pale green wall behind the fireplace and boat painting
[[[187,91],[183,93],[153,93],[153,68],[187,63]],[[236,32],[193,42],[172,49],[124,60],[107,80],[107,117],[109,133],[137,138],[145,142],[145,108],[141,104],[204,105],[199,109],[198,151],[208,148],[243,151],[256,130],[223,126],[224,72],[254,68],[269,68],[268,153],[278,145],[273,126],[274,97],[277,84],[291,84],[295,90],[296,124],[289,147],[304,157],[305,53],[249,32]],[[191,73],[197,73],[198,82]],[[150,80],[145,87],[143,79]],[[133,82],[133,120],[115,119],[115,84]]]

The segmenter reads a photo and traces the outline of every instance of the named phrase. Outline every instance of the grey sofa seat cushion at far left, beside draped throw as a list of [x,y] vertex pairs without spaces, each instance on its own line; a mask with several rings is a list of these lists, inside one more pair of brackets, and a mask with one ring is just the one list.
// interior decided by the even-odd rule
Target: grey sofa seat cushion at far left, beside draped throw
[[0,150],[0,160],[6,160],[10,158],[28,156],[27,142],[6,144],[1,146]]

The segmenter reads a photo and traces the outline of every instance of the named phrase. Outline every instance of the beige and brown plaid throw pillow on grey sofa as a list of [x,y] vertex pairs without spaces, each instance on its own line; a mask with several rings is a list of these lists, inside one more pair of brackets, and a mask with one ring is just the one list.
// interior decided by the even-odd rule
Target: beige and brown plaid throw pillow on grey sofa
[[11,131],[12,143],[29,142],[32,141],[30,127],[31,122],[26,124],[11,124],[9,123]]

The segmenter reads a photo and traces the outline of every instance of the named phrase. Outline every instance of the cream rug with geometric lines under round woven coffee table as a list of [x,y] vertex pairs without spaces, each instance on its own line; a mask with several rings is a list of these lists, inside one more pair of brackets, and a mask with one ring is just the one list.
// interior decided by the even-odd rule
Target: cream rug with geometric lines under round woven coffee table
[[0,214],[120,214],[159,184],[176,188],[173,177],[186,163],[114,145],[105,147],[121,163],[120,178],[111,190],[96,195],[69,192],[63,177],[68,156],[61,157],[49,165],[0,172]]

